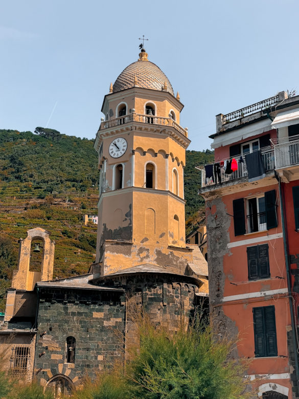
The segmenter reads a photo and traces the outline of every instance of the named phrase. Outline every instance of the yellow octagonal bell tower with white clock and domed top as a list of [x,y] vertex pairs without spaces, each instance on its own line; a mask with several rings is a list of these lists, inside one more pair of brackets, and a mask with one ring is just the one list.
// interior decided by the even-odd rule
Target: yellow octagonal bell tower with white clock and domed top
[[[183,168],[190,140],[183,108],[144,49],[110,85],[95,140],[99,153],[96,263],[101,274],[151,264],[183,272]],[[183,270],[184,269],[184,270]]]

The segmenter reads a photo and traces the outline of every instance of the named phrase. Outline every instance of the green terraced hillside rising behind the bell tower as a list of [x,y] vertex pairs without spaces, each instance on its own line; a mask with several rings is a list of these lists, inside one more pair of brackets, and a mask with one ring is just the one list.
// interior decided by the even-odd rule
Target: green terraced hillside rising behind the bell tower
[[[194,166],[212,160],[209,150],[187,151],[189,230],[203,204],[197,195],[200,173]],[[84,226],[82,215],[97,214],[97,182],[93,140],[0,130],[0,311],[16,267],[18,239],[25,238],[28,229],[47,229],[55,240],[54,278],[87,272],[95,259],[96,225]]]

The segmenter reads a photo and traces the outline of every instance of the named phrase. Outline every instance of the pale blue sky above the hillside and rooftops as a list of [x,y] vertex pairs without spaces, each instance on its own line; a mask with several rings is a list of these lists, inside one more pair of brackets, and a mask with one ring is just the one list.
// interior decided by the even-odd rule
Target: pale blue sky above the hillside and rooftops
[[94,139],[110,82],[138,58],[185,105],[189,149],[210,148],[215,115],[296,90],[297,0],[0,2],[0,128]]

